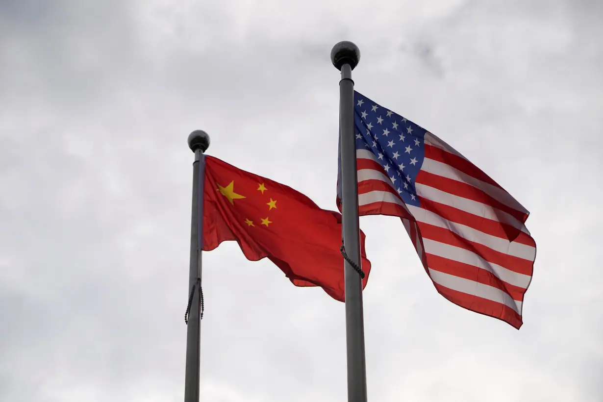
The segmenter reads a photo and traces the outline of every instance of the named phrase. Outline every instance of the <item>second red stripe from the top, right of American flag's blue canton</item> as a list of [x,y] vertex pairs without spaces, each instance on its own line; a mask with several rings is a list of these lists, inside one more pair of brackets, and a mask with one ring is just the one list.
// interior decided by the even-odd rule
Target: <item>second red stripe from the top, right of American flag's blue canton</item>
[[426,186],[434,187],[435,189],[442,190],[449,194],[472,199],[473,201],[478,201],[478,203],[494,207],[503,212],[507,212],[509,215],[513,216],[522,223],[528,219],[528,214],[501,203],[496,198],[493,198],[482,190],[473,187],[471,184],[452,180],[451,178],[441,177],[425,171],[419,172],[417,175],[417,183],[425,184]]

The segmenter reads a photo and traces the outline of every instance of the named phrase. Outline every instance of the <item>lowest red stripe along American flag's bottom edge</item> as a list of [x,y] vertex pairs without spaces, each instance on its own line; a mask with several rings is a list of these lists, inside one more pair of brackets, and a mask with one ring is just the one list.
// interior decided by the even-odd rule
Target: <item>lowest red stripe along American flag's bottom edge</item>
[[505,304],[497,303],[496,301],[487,300],[473,295],[468,295],[463,292],[453,291],[452,289],[441,286],[435,282],[434,285],[435,289],[437,289],[440,295],[467,310],[501,319],[502,321],[513,325],[513,327],[518,330],[523,324],[522,316],[517,314],[515,310],[511,309],[511,307],[508,307]]

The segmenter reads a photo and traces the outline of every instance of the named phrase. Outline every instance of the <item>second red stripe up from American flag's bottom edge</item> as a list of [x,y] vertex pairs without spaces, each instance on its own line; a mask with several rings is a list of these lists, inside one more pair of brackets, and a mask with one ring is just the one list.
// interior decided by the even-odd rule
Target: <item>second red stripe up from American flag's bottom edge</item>
[[487,284],[488,286],[496,287],[500,291],[510,295],[513,300],[523,301],[523,295],[526,289],[523,287],[514,286],[505,281],[500,280],[492,272],[486,269],[481,269],[476,266],[465,264],[458,261],[446,259],[444,257],[435,256],[429,254],[429,250],[426,251],[427,265],[429,268],[435,271],[444,272],[445,274],[454,275],[455,277],[465,278],[478,283]]

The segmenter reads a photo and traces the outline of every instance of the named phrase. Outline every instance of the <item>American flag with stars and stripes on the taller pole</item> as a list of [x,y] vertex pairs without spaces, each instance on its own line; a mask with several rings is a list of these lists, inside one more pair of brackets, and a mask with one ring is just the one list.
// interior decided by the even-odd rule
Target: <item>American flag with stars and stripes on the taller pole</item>
[[361,93],[354,104],[359,215],[399,216],[441,295],[519,329],[536,256],[528,210],[434,134]]

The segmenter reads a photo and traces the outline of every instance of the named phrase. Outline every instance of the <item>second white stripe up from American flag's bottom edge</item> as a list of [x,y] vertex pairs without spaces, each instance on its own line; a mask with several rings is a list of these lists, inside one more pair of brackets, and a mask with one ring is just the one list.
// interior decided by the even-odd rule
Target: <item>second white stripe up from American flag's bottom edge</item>
[[500,280],[512,284],[513,286],[527,289],[529,281],[531,280],[529,275],[518,274],[504,266],[488,262],[478,254],[465,250],[464,248],[425,238],[423,238],[423,245],[425,246],[425,253],[485,269]]

